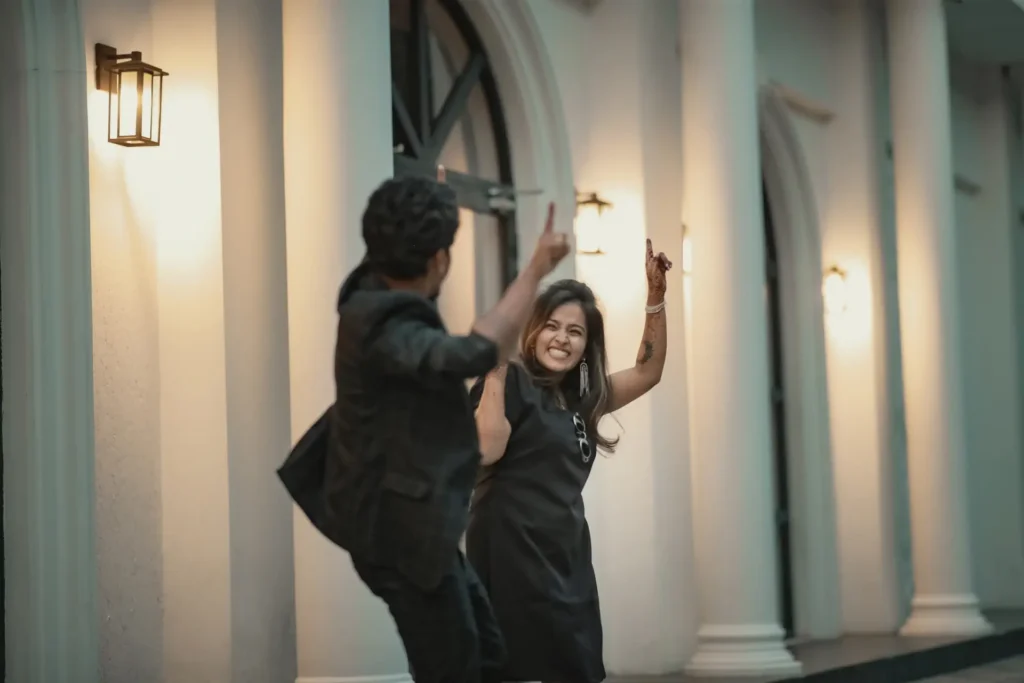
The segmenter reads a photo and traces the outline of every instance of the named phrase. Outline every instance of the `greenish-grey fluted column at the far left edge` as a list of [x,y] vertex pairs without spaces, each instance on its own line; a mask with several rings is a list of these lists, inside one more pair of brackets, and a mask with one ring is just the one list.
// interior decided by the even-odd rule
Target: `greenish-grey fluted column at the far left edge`
[[0,3],[6,680],[97,683],[89,167],[75,0]]

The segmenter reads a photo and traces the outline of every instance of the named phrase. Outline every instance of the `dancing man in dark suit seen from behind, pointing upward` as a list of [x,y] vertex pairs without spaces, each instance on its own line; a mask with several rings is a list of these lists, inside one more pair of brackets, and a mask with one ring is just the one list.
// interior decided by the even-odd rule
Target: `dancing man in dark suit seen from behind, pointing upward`
[[510,355],[541,279],[568,253],[553,207],[529,265],[465,337],[436,299],[459,226],[455,193],[385,181],[362,216],[367,257],[342,286],[329,412],[328,535],[387,603],[417,683],[492,678],[504,644],[459,550],[479,465],[466,380]]

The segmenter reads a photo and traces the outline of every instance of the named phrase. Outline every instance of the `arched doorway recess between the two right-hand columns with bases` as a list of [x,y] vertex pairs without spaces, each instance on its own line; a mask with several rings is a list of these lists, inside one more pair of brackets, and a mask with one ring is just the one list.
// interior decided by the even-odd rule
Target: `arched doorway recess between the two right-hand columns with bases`
[[818,215],[784,96],[769,85],[760,99],[779,616],[791,636],[834,638],[842,612]]

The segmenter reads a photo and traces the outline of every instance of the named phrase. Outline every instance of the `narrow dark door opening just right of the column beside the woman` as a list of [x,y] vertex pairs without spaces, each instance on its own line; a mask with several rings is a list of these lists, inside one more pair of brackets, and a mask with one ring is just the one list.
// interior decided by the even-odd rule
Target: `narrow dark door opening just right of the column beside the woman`
[[782,358],[782,309],[778,250],[768,190],[762,184],[764,208],[765,283],[768,303],[768,357],[771,372],[772,451],[775,471],[775,533],[778,544],[779,615],[787,638],[794,636],[793,557],[790,527],[790,470],[785,434],[785,385]]

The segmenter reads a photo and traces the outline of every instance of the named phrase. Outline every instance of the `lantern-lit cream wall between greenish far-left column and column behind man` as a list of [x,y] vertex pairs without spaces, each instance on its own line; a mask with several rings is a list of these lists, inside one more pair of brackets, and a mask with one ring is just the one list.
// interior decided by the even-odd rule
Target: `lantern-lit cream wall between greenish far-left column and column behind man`
[[[168,70],[160,147],[89,83],[102,678],[295,676],[281,9],[87,0]],[[219,19],[219,20],[218,20]],[[90,71],[91,76],[91,71]]]

